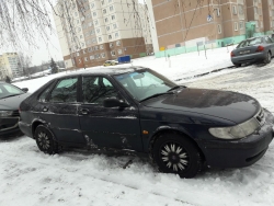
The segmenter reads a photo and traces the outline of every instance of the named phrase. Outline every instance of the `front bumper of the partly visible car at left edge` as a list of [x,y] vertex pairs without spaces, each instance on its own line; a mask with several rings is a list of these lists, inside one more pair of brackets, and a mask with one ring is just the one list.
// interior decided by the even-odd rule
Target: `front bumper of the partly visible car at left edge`
[[22,135],[19,128],[19,117],[1,117],[0,118],[0,138],[14,137]]

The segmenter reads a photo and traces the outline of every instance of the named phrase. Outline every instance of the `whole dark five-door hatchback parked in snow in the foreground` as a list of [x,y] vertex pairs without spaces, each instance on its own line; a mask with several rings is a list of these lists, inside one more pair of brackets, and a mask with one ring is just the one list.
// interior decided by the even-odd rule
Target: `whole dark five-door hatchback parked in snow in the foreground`
[[57,78],[20,111],[20,128],[45,153],[61,146],[132,150],[182,178],[203,165],[248,167],[273,139],[274,117],[255,99],[185,88],[142,67]]

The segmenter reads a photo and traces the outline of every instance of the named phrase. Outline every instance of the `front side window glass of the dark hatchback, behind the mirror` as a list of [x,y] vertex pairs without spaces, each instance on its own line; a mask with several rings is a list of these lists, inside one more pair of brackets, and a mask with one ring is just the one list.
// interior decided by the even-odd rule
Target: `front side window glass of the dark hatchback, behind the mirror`
[[83,77],[83,103],[103,105],[106,98],[117,98],[117,91],[104,77]]

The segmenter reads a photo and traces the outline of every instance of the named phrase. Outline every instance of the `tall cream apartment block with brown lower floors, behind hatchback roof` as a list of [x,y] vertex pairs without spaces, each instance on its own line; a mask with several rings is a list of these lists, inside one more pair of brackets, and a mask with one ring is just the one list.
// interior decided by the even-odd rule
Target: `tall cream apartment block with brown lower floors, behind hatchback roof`
[[54,19],[66,67],[93,67],[119,56],[152,53],[145,9],[121,0],[59,0]]

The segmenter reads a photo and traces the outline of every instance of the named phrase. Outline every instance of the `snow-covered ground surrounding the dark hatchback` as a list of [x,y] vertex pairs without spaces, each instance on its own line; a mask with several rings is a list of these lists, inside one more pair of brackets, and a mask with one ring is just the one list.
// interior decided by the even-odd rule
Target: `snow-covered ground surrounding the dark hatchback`
[[[173,80],[203,73],[203,67],[207,71],[212,68],[205,65],[194,71],[195,66],[204,62],[198,58],[195,60],[194,57],[193,65],[189,65],[190,60],[182,57],[183,67],[174,65],[171,69],[164,59],[147,59],[147,65],[151,64],[152,69]],[[207,62],[214,67],[215,60],[212,59]],[[219,65],[226,64],[229,65],[219,61]],[[247,93],[274,113],[273,66],[270,64],[265,67],[249,66],[224,70],[198,79],[181,80],[180,83]],[[34,91],[60,75],[15,84]],[[133,163],[123,169],[128,160],[133,160]],[[33,139],[24,136],[0,142],[0,205],[4,206],[271,206],[274,205],[274,144],[251,167],[208,169],[195,179],[183,180],[173,174],[158,173],[146,159],[134,156],[109,157],[80,151],[47,156],[38,150]]]

